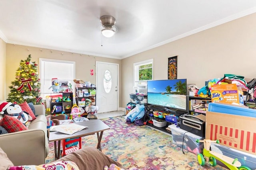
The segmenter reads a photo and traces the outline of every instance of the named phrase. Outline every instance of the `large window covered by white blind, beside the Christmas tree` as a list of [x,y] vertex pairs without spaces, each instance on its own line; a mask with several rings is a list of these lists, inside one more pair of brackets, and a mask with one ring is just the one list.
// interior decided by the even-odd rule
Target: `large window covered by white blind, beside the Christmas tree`
[[[75,78],[75,62],[62,61],[52,59],[39,59],[40,61],[40,75],[41,75],[41,97],[45,99],[52,93],[52,78],[58,78],[59,82],[71,83],[72,89],[74,89]],[[64,84],[64,83],[63,83]],[[62,89],[60,89],[62,90]]]

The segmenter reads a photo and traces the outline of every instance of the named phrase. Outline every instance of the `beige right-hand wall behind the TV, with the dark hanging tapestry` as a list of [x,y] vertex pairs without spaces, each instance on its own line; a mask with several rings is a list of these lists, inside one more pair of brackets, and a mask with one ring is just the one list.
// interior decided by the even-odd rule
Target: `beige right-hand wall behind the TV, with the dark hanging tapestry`
[[[178,78],[200,88],[224,74],[256,77],[256,13],[122,59],[122,104],[129,102],[133,63],[154,59],[154,80],[168,78],[168,57],[178,55]],[[149,39],[150,41],[150,39]]]

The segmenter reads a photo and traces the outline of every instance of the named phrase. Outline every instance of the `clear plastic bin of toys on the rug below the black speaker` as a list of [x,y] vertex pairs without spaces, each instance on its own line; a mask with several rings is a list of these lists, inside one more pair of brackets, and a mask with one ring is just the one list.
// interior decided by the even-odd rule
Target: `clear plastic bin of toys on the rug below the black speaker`
[[178,147],[182,148],[183,143],[183,149],[188,150],[189,152],[192,152],[196,155],[201,153],[201,151],[204,149],[203,143],[196,143],[196,139],[203,140],[204,137],[200,137],[198,135],[180,129],[180,127],[176,127],[176,125],[174,124],[169,125],[168,127],[172,131],[172,143],[174,143]]

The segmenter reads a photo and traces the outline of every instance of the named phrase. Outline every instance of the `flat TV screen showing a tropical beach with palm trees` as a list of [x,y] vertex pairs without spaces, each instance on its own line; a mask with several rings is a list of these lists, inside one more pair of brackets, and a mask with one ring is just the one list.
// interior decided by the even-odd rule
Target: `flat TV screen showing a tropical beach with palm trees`
[[148,81],[148,104],[187,110],[187,79]]

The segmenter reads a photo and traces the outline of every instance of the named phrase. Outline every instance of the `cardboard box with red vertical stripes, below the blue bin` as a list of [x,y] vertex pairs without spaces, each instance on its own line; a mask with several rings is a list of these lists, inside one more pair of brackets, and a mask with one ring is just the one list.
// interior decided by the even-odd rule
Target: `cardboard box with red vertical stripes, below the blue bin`
[[221,145],[256,154],[256,117],[206,112],[206,139]]

